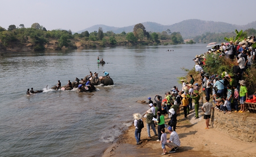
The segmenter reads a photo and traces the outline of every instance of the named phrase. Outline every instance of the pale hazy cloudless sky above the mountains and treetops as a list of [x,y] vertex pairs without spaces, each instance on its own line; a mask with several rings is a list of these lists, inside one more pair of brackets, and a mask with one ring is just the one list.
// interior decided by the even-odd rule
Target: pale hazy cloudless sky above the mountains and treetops
[[201,19],[246,25],[256,20],[256,0],[0,0],[0,6],[0,26],[5,29],[35,22],[47,30],[78,32],[97,24],[172,25]]

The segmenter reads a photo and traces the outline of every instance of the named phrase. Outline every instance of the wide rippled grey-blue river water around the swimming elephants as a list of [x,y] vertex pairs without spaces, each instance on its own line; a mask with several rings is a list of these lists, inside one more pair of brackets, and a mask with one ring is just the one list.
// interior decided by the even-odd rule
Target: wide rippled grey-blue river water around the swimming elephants
[[[133,113],[148,109],[136,101],[180,89],[181,67],[191,69],[205,51],[205,44],[185,44],[1,53],[0,156],[101,156]],[[98,65],[97,56],[108,64]],[[93,93],[45,88],[84,78],[89,69],[107,71],[115,84]],[[44,92],[26,96],[31,87]]]

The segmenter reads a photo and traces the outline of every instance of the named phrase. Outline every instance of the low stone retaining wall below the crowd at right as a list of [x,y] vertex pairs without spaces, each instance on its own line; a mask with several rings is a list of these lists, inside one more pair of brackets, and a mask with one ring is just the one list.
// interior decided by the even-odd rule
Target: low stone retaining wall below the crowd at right
[[214,110],[214,128],[234,138],[256,143],[256,118],[243,113],[224,114]]

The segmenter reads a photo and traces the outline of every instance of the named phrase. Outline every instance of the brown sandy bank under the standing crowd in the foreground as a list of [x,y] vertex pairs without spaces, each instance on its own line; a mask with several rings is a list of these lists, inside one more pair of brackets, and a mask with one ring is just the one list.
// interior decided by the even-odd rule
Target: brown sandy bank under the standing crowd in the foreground
[[[175,153],[169,153],[165,156],[172,157],[256,157],[256,144],[241,141],[232,138],[223,132],[214,128],[214,124],[205,128],[205,120],[201,111],[202,103],[199,107],[199,119],[194,119],[194,109],[188,115],[188,119],[184,117],[183,111],[177,116],[176,132],[179,135],[181,146]],[[194,107],[194,106],[193,106]],[[169,121],[165,116],[166,122]],[[144,123],[145,118],[143,118]],[[211,123],[211,122],[210,122]],[[157,126],[156,126],[157,128]],[[162,148],[160,142],[157,142],[157,136],[148,138],[146,125],[141,132],[141,145],[136,145],[134,137],[135,127],[131,125],[129,129],[124,131],[117,142],[109,147],[103,154],[103,157],[147,157],[162,156]],[[156,129],[157,131],[157,129]],[[154,135],[151,130],[151,135]],[[167,132],[167,138],[170,134]],[[166,147],[170,151],[169,147]]]

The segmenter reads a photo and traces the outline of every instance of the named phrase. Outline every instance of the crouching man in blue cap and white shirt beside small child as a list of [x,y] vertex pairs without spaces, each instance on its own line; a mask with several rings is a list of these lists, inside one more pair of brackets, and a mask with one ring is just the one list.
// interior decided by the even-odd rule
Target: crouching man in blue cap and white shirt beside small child
[[171,135],[170,135],[170,139],[167,140],[166,146],[169,148],[172,148],[172,150],[169,151],[169,153],[173,153],[181,145],[181,141],[180,141],[180,138],[178,137],[177,132],[173,131],[171,126],[169,126],[167,129]]

